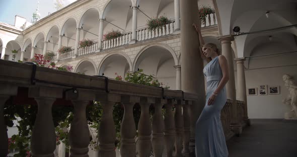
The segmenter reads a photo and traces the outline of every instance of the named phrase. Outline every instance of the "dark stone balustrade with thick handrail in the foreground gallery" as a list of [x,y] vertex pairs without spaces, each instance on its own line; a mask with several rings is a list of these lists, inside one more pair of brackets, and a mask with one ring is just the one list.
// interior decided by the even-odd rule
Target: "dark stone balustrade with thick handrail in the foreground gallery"
[[[18,72],[16,72],[18,71]],[[86,107],[91,101],[100,101],[103,107],[99,126],[99,156],[115,156],[115,125],[113,106],[122,103],[124,116],[121,124],[121,156],[135,156],[135,136],[138,130],[139,156],[189,155],[190,113],[189,109],[197,96],[182,91],[136,85],[107,78],[82,75],[46,67],[0,60],[0,155],[8,151],[8,136],[3,109],[10,97],[18,97],[20,88],[28,89],[28,98],[34,98],[38,113],[31,138],[33,156],[53,156],[56,145],[52,120],[52,105],[65,105],[71,101],[74,118],[69,131],[71,156],[88,156],[90,135],[86,119]],[[138,128],[133,119],[133,106],[139,104],[141,114]],[[239,103],[240,104],[240,103]],[[234,135],[230,129],[231,106],[228,100],[221,112],[226,138]],[[148,108],[155,113],[150,121]],[[242,108],[241,106],[239,106]],[[162,108],[165,115],[162,115]],[[241,117],[239,117],[241,118]],[[46,134],[46,136],[44,136]],[[152,135],[152,136],[151,136]],[[173,152],[175,154],[173,154]]]

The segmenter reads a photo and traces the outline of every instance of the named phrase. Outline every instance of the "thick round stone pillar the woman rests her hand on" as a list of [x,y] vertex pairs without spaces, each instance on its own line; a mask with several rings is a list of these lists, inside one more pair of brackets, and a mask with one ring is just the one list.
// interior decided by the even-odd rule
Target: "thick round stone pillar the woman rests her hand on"
[[[205,105],[203,60],[199,52],[198,35],[193,27],[193,23],[200,23],[197,13],[196,0],[180,1],[182,90],[197,95],[197,101],[190,106],[191,146],[195,143],[196,121]],[[191,152],[193,151],[194,147],[191,147]]]

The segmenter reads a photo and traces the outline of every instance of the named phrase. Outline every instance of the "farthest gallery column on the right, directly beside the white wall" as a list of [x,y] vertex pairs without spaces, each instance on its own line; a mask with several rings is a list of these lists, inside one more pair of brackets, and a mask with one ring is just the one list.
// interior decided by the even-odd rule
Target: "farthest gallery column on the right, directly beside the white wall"
[[249,124],[248,118],[248,103],[247,103],[247,89],[246,89],[246,76],[244,69],[245,58],[235,59],[237,63],[237,96],[238,100],[244,101],[244,120]]

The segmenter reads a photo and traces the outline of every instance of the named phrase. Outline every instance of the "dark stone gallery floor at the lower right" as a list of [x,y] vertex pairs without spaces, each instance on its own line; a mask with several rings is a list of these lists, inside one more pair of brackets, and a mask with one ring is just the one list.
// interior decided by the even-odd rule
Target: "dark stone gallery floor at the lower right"
[[297,120],[251,119],[251,126],[227,146],[229,157],[296,157]]

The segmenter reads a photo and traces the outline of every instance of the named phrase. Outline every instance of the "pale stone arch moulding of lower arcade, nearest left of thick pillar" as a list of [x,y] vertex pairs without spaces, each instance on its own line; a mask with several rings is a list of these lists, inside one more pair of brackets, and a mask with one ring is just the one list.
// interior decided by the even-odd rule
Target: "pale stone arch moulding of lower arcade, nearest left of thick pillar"
[[171,53],[171,55],[172,55],[172,57],[173,57],[173,59],[174,59],[174,64],[175,64],[175,65],[178,65],[177,55],[175,54],[175,51],[174,51],[169,45],[167,45],[167,44],[163,44],[163,43],[153,43],[153,44],[149,44],[149,45],[145,46],[144,48],[142,48],[142,49],[138,52],[138,54],[136,55],[136,57],[135,57],[135,59],[134,59],[133,66],[132,66],[132,70],[135,70],[136,62],[137,62],[139,56],[140,56],[146,49],[151,48],[151,47],[154,47],[154,46],[160,46],[160,47],[163,47],[163,48],[167,49],[167,50]]

